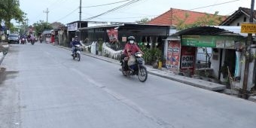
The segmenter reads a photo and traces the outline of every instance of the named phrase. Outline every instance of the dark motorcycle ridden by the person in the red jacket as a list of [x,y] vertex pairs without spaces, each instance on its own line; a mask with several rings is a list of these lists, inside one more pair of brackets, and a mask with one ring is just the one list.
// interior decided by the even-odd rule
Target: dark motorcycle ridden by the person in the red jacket
[[124,70],[124,61],[125,61],[124,59],[120,60],[120,63],[121,63],[120,72],[122,72],[124,76],[130,77],[130,75],[138,75],[139,81],[145,82],[147,80],[148,71],[144,66],[145,61],[142,58],[142,53],[137,52],[135,53],[135,55],[130,56],[130,59],[128,60],[128,67],[129,67],[128,71]]

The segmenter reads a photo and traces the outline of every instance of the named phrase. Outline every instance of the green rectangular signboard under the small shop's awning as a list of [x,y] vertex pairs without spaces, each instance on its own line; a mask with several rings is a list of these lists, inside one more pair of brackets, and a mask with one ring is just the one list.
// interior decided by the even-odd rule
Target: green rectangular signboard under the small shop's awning
[[213,36],[207,35],[182,35],[182,46],[192,47],[216,47]]

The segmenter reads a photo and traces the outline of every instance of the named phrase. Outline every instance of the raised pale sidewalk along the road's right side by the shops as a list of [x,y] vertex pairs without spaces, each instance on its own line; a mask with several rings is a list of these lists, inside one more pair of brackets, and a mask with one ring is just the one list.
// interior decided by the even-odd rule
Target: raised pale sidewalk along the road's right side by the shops
[[[62,47],[62,46],[59,46],[59,47]],[[62,48],[70,50],[69,47],[62,47]],[[92,53],[88,53],[88,52],[83,52],[83,53],[87,56],[91,56],[91,57],[94,57],[94,58],[97,58],[97,59],[102,59],[104,61],[112,62],[112,63],[120,65],[119,60],[116,60],[116,59],[111,59],[111,58],[108,58],[108,57],[105,57],[105,56],[93,55]],[[194,86],[194,87],[200,87],[200,88],[203,88],[205,90],[221,91],[221,90],[224,90],[226,88],[223,84],[216,84],[216,83],[213,83],[213,82],[203,81],[203,80],[200,80],[200,79],[188,78],[188,77],[184,77],[184,76],[181,76],[181,75],[175,75],[174,73],[172,73],[171,71],[169,71],[166,68],[163,68],[163,69],[160,70],[160,69],[153,69],[153,66],[146,66],[146,67],[147,67],[147,70],[148,70],[148,74],[157,75],[159,77],[167,78],[167,79],[172,80],[172,81],[178,81],[178,82],[181,82],[181,83],[184,83],[184,84],[189,84],[189,85]]]

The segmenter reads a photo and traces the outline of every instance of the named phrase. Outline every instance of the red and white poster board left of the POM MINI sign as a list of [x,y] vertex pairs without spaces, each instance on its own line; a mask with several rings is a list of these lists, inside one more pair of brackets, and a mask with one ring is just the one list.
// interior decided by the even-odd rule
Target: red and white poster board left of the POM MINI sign
[[181,43],[179,41],[169,41],[167,49],[166,66],[169,69],[178,71],[180,59]]

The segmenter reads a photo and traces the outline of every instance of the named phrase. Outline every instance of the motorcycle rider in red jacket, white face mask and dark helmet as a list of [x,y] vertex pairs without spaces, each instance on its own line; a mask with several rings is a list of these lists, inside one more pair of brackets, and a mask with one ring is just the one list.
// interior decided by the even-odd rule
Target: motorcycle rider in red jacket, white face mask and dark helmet
[[124,71],[128,71],[128,69],[129,69],[129,67],[128,67],[129,56],[134,55],[136,52],[140,52],[143,54],[142,50],[140,50],[138,45],[136,44],[134,36],[129,36],[127,38],[127,43],[123,49]]

